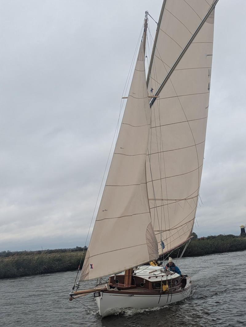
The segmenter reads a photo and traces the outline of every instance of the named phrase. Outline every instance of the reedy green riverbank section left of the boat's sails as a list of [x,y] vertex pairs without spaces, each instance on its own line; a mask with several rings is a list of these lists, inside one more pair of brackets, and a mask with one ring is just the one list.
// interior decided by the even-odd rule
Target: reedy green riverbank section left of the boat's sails
[[[82,253],[83,251],[38,254],[27,251],[0,257],[0,279],[76,270]],[[82,264],[83,262],[84,258]]]

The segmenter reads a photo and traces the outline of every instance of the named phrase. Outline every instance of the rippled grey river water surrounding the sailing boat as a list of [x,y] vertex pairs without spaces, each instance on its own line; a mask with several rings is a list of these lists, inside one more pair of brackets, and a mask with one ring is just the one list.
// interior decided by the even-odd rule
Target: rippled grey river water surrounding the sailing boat
[[[128,309],[101,319],[92,295],[68,301],[74,271],[0,281],[1,327],[192,327],[246,326],[246,251],[182,258],[192,295],[163,308]],[[93,287],[95,283],[85,283]]]

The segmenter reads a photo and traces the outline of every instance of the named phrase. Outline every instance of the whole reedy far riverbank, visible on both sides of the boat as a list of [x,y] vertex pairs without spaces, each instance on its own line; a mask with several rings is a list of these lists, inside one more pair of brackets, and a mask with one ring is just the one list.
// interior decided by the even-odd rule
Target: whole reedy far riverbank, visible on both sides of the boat
[[[171,253],[172,257],[181,254],[180,250]],[[46,251],[21,251],[0,253],[0,279],[21,276],[40,275],[45,273],[61,272],[78,269],[83,251],[81,248],[58,249]],[[65,251],[66,250],[66,251]],[[184,252],[184,257],[195,257],[207,254],[233,252],[246,250],[246,237],[235,235],[218,235],[197,238],[191,240]],[[56,251],[56,252],[53,252]],[[50,253],[53,252],[53,253]],[[84,263],[85,253],[82,258],[81,267]]]

